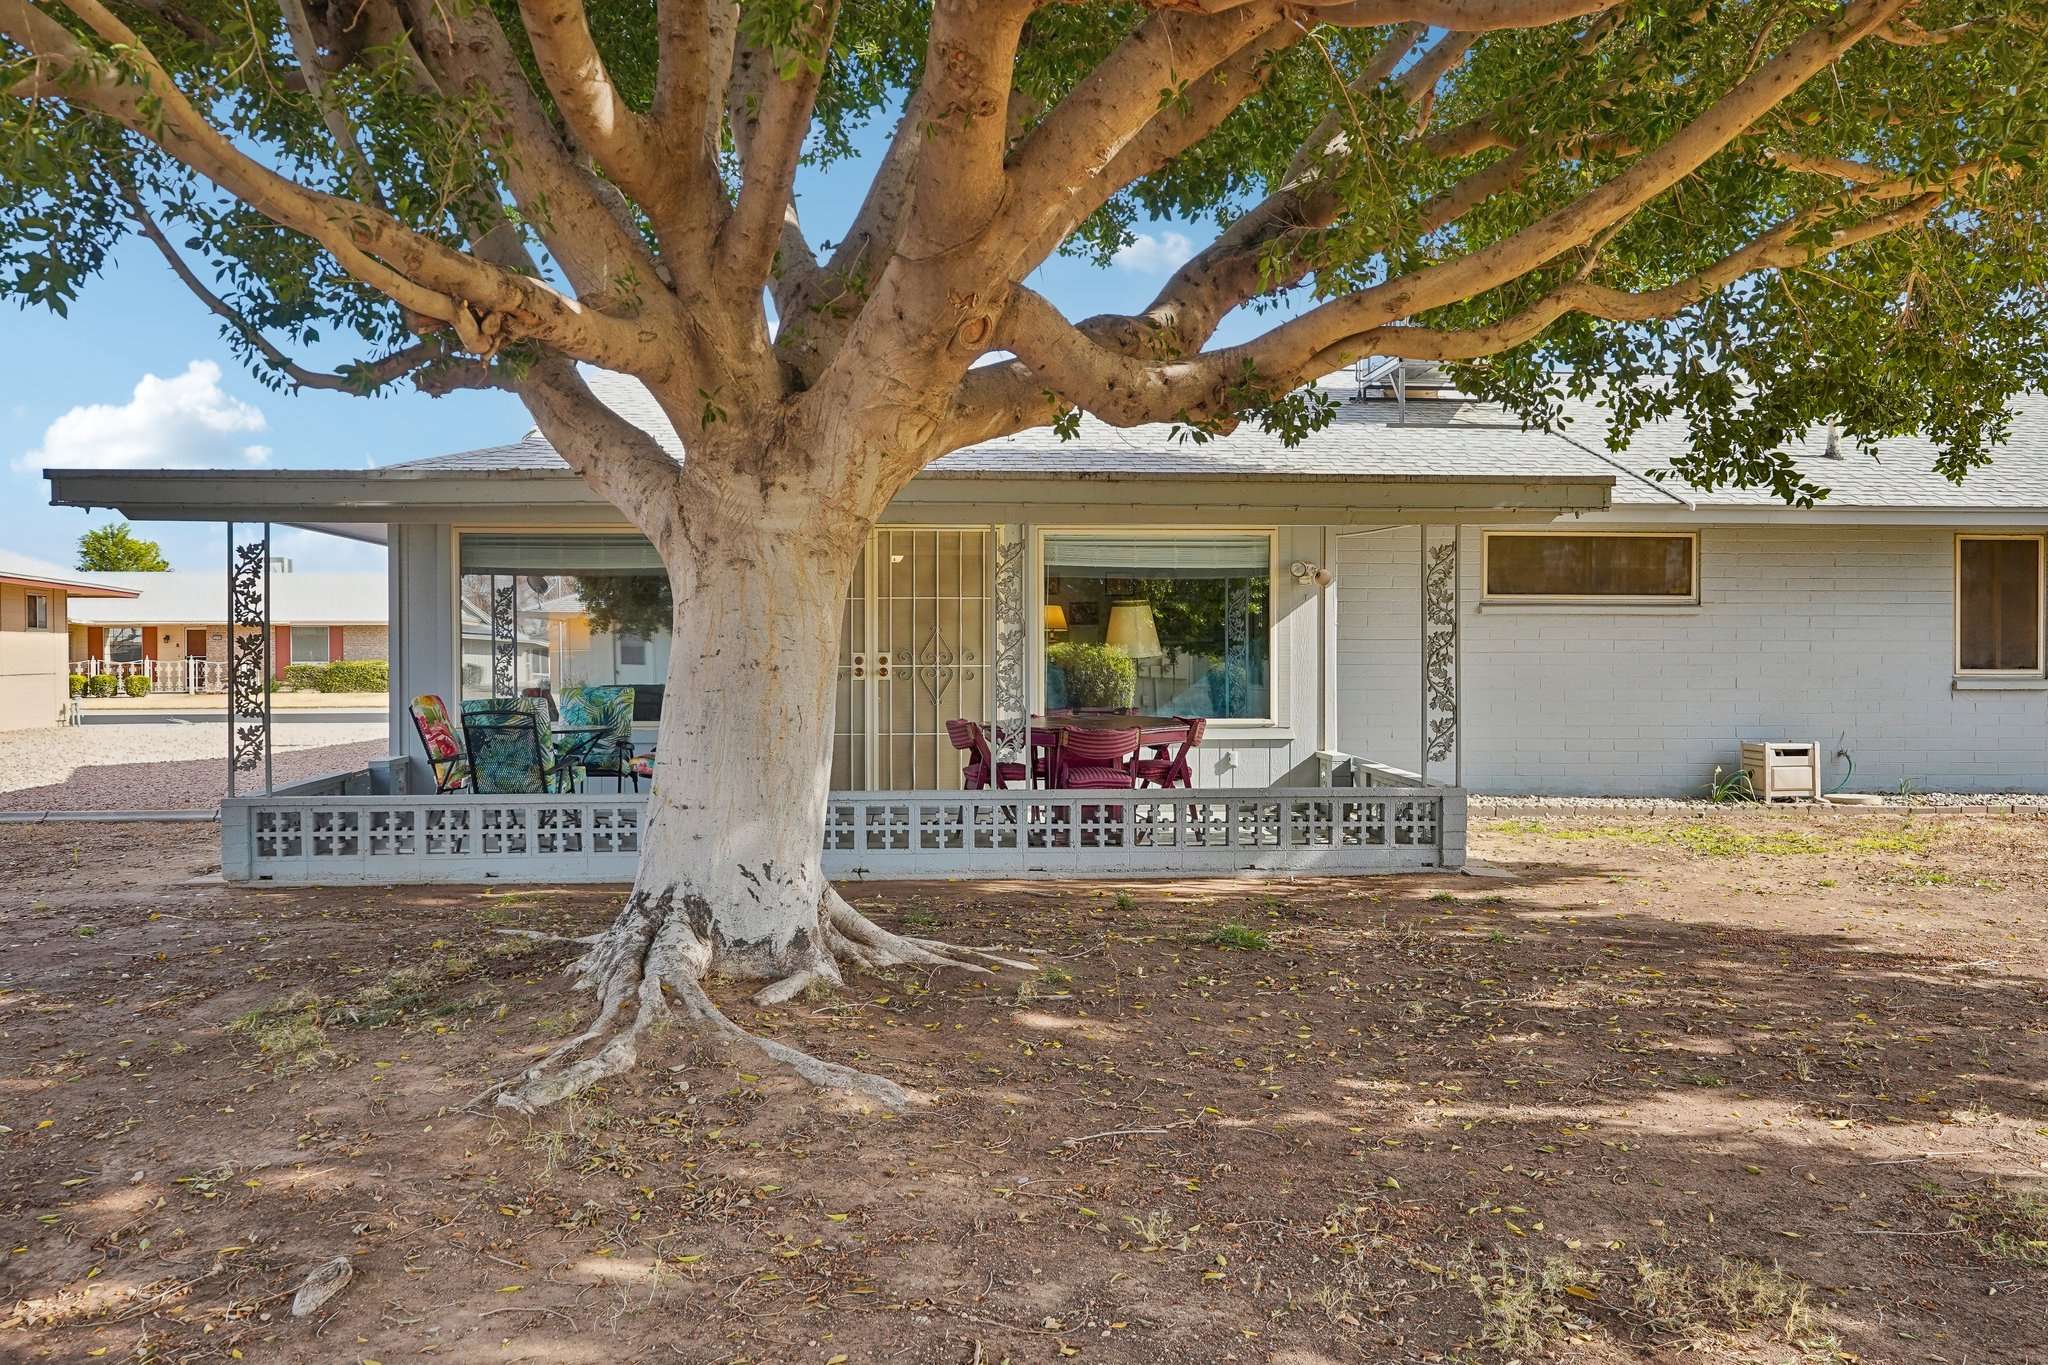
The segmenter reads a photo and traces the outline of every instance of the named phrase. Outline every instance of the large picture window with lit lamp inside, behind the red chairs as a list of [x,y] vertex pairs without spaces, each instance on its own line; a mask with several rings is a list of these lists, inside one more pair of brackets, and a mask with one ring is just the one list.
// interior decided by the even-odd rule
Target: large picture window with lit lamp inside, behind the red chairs
[[1047,710],[1272,718],[1272,536],[1044,538]]

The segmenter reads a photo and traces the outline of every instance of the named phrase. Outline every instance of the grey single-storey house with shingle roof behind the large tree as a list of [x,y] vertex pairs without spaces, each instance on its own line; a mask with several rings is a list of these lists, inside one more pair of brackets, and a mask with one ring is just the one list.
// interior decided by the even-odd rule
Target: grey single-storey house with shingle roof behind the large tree
[[[594,383],[680,452],[639,385]],[[1620,456],[1589,405],[1542,434],[1427,372],[1325,385],[1337,417],[1294,450],[1083,420],[913,479],[848,604],[834,788],[956,786],[944,720],[1075,700],[1061,647],[1116,643],[1141,710],[1210,716],[1208,788],[1358,755],[1485,792],[1692,796],[1743,739],[1784,739],[1821,745],[1829,786],[2048,790],[2048,403],[1962,485],[1931,442],[1817,434],[1798,458],[1833,495],[1794,510],[1647,477],[1675,428]],[[633,681],[657,714],[666,632],[582,608],[647,620],[618,604],[657,600],[659,563],[539,434],[369,471],[49,477],[133,520],[383,538],[391,743],[422,774],[412,694]]]

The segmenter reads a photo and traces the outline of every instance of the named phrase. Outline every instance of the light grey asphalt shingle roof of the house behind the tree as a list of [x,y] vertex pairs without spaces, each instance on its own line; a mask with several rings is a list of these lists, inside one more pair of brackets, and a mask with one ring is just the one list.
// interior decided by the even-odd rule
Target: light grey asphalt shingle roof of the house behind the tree
[[[678,458],[682,442],[647,389],[633,379],[590,372],[590,385],[614,411],[651,432]],[[1616,508],[1681,505],[1772,508],[1769,489],[1702,493],[1681,479],[1653,481],[1645,471],[1667,467],[1686,448],[1686,428],[1655,424],[1622,452],[1610,452],[1608,422],[1593,403],[1569,403],[1561,432],[1524,430],[1511,413],[1458,399],[1356,401],[1348,375],[1325,389],[1339,399],[1329,428],[1286,448],[1253,424],[1204,444],[1176,438],[1167,424],[1114,428],[1083,415],[1079,434],[1020,432],[934,460],[920,477],[1174,477],[1174,479],[1446,479],[1446,477],[1591,477],[1614,479]],[[1800,471],[1829,489],[1823,508],[2048,508],[2048,399],[2019,403],[2011,438],[1989,469],[1956,485],[1933,473],[1935,444],[1890,440],[1876,456],[1841,442],[1827,454],[1815,432],[1794,452]],[[567,471],[539,434],[524,440],[410,460],[397,469],[434,473]]]

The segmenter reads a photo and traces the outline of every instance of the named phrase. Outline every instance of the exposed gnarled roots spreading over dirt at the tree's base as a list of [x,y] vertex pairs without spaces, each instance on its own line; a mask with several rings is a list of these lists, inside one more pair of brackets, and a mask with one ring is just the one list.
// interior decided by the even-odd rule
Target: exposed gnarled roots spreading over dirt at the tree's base
[[[887,1076],[823,1062],[733,1023],[705,993],[702,980],[711,968],[711,943],[690,927],[690,919],[668,898],[635,894],[610,929],[588,937],[508,933],[586,945],[588,952],[569,970],[578,990],[590,990],[598,997],[598,1013],[582,1033],[551,1048],[522,1074],[483,1091],[477,1101],[496,1095],[496,1103],[504,1109],[535,1113],[600,1081],[625,1074],[639,1062],[641,1036],[674,1003],[719,1040],[745,1044],[788,1066],[811,1085],[850,1091],[891,1111],[903,1111],[911,1103],[911,1093]],[[985,948],[956,948],[883,929],[848,905],[831,886],[825,888],[819,905],[819,939],[821,943],[801,960],[801,966],[762,986],[754,995],[754,1003],[782,1005],[811,986],[840,986],[838,960],[866,968],[924,966],[983,974],[991,970],[983,962],[1034,970],[1028,962],[1004,958]]]

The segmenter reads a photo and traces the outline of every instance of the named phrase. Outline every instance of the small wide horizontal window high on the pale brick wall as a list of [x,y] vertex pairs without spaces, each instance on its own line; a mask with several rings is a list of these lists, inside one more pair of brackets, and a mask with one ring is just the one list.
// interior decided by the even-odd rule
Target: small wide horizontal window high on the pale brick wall
[[1489,602],[1698,602],[1692,534],[1503,532],[1485,536]]

